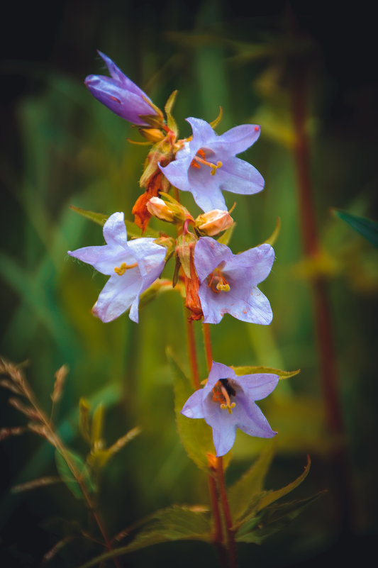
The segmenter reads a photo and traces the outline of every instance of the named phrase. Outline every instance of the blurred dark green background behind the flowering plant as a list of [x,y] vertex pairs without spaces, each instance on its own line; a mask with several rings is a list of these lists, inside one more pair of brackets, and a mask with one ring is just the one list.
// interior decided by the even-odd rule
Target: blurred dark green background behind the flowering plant
[[[103,242],[101,228],[70,204],[108,214],[125,211],[131,218],[146,153],[146,147],[126,140],[140,139],[138,132],[84,88],[87,74],[106,74],[96,49],[160,107],[179,89],[174,116],[182,136],[190,133],[184,118],[211,121],[219,106],[224,114],[218,133],[240,123],[262,126],[260,140],[243,158],[265,177],[265,191],[237,196],[238,224],[230,246],[240,252],[262,243],[281,218],[276,262],[260,286],[274,320],[262,328],[226,316],[211,327],[213,358],[228,365],[301,368],[261,403],[279,431],[267,486],[297,477],[308,453],[313,467],[296,497],[322,489],[328,494],[264,545],[241,545],[240,566],[312,566],[354,553],[361,561],[377,532],[378,252],[330,212],[336,207],[377,218],[375,30],[364,6],[359,3],[356,13],[339,2],[330,8],[300,1],[243,6],[226,0],[111,0],[6,9],[0,68],[0,352],[15,362],[28,360],[28,379],[45,408],[56,369],[63,363],[70,367],[55,421],[74,450],[86,450],[77,433],[81,396],[106,406],[109,444],[135,425],[142,428],[101,481],[111,533],[157,508],[207,503],[208,497],[206,480],[185,454],[174,423],[165,347],[186,360],[179,294],[164,294],[141,309],[139,325],[128,316],[101,323],[90,310],[104,277],[67,256],[67,250]],[[291,86],[298,60],[306,69],[306,133],[323,249],[316,266],[303,255],[293,157]],[[233,201],[234,194],[226,194],[228,206]],[[184,202],[199,211],[191,195]],[[352,536],[343,531],[338,512],[339,481],[330,460],[334,440],[324,419],[309,282],[318,270],[329,282],[352,478],[347,507]],[[167,277],[172,271],[171,263]],[[202,352],[200,359],[205,378]],[[7,399],[1,391],[1,425],[18,425],[23,418]],[[262,445],[238,433],[228,481],[249,467]],[[86,513],[65,486],[10,494],[14,484],[55,472],[52,450],[35,436],[5,440],[0,452],[1,558],[5,567],[37,567],[58,540],[54,530],[62,520],[57,518],[85,523]],[[70,560],[62,555],[52,565],[74,566],[82,555],[85,550]],[[177,559],[183,567],[216,565],[206,545],[179,542],[130,555],[125,566],[170,566]]]

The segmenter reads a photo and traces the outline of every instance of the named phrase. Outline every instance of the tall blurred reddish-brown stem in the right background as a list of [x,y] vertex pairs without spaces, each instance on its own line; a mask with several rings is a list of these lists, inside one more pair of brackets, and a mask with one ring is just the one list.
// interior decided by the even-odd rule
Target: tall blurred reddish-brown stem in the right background
[[[301,218],[301,233],[304,252],[308,257],[314,257],[319,251],[318,234],[316,230],[315,208],[313,206],[313,189],[311,182],[310,150],[306,134],[306,73],[303,66],[295,69],[292,87],[292,116],[296,142],[294,145],[294,160]],[[333,343],[332,318],[328,301],[326,281],[319,276],[313,279],[313,299],[315,330],[318,342],[318,359],[320,365],[321,387],[326,408],[326,420],[330,433],[337,443],[344,438],[343,414],[338,394],[338,371],[335,362],[335,347]],[[351,481],[348,468],[348,458],[345,447],[340,446],[333,455],[335,475],[339,492],[340,512],[345,515],[349,508],[352,518]]]

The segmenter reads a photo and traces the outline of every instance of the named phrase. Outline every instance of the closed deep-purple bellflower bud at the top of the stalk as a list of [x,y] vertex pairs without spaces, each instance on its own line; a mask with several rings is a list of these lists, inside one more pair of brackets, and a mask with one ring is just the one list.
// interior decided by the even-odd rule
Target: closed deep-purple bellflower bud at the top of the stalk
[[157,114],[149,104],[148,96],[118,69],[110,57],[101,51],[98,53],[106,63],[111,77],[88,75],[84,81],[86,87],[95,99],[110,108],[113,113],[138,126],[148,126],[140,115]]

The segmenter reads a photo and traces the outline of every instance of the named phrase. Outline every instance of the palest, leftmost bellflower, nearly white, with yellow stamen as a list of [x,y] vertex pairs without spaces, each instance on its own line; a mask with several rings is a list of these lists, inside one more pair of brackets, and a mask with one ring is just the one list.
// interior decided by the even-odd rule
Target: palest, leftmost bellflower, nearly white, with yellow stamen
[[138,322],[139,296],[160,276],[165,247],[156,245],[153,238],[127,242],[123,213],[109,217],[104,238],[106,245],[83,247],[68,254],[110,276],[94,306],[96,316],[108,322],[130,308],[130,319]]

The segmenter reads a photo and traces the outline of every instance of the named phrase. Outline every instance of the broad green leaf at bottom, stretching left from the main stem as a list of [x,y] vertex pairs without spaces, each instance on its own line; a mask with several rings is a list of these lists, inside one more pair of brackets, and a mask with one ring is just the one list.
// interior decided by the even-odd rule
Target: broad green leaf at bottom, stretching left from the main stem
[[82,564],[90,568],[107,559],[126,555],[159,542],[172,540],[202,540],[211,542],[210,516],[204,507],[173,506],[153,513],[144,523],[143,529],[127,546],[116,548]]

